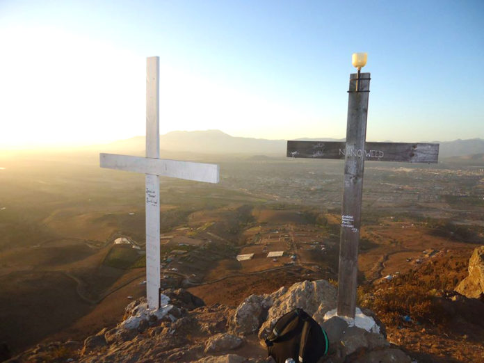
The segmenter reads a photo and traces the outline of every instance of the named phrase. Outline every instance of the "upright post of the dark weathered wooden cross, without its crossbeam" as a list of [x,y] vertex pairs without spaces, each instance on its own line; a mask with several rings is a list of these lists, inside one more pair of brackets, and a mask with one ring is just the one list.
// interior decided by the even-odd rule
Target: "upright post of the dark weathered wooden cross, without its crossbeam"
[[358,271],[358,243],[362,209],[364,143],[370,90],[370,74],[350,75],[348,121],[344,164],[341,239],[339,244],[339,275],[337,314],[355,318]]

